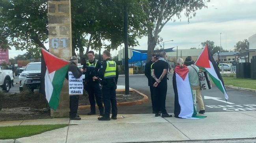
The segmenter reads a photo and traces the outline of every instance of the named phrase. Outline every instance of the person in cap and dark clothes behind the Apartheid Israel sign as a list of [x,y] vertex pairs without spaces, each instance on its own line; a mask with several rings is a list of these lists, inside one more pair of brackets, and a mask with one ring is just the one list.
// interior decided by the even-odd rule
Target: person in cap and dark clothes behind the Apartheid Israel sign
[[[82,76],[82,71],[83,69],[79,69],[77,67],[78,60],[75,56],[72,56],[70,58],[70,65],[69,65],[69,70],[71,71],[72,74],[75,76],[75,78],[80,78]],[[68,72],[66,74],[66,79],[68,80]],[[78,100],[79,100],[79,95],[70,95],[69,96],[69,118],[72,120],[80,120],[81,118],[77,115],[77,109],[78,109]]]

